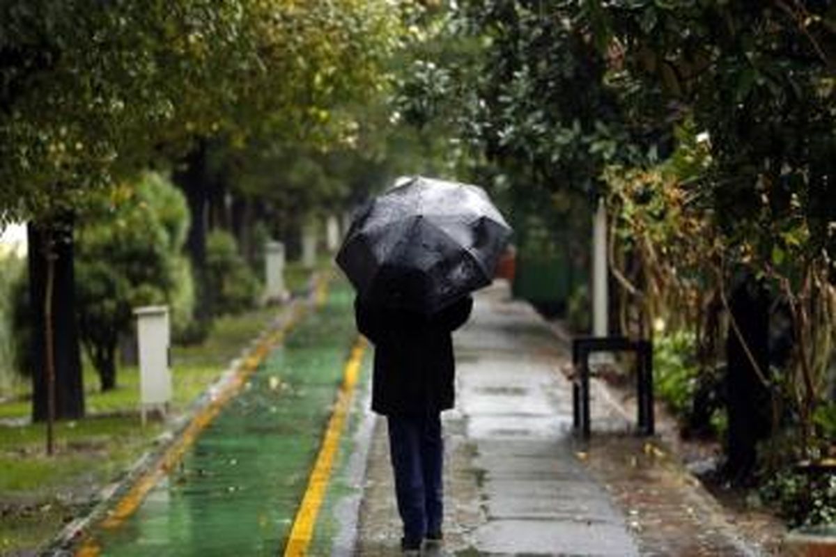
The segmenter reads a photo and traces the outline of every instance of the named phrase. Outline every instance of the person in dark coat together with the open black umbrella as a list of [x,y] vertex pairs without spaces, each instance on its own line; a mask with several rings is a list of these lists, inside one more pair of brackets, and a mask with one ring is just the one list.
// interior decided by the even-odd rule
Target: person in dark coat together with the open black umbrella
[[455,403],[451,333],[470,316],[511,229],[475,185],[401,179],[354,219],[337,263],[375,345],[372,410],[387,418],[401,548],[441,549],[441,412]]

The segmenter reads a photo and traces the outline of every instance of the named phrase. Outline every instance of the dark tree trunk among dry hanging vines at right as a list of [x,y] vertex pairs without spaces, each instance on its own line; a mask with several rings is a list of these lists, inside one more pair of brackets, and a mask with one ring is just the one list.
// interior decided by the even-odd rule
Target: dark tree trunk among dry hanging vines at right
[[732,291],[729,306],[740,334],[730,325],[726,337],[725,473],[735,484],[746,484],[757,463],[757,443],[772,431],[771,394],[760,377],[769,369],[769,296],[747,276]]

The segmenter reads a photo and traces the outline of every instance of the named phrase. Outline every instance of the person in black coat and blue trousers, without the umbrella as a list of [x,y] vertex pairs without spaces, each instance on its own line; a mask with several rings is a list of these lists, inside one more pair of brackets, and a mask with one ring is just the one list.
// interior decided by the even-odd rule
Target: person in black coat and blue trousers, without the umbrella
[[387,418],[405,554],[417,554],[424,539],[441,545],[441,412],[454,401],[451,332],[472,305],[466,296],[426,316],[355,301],[357,328],[375,344],[372,410]]

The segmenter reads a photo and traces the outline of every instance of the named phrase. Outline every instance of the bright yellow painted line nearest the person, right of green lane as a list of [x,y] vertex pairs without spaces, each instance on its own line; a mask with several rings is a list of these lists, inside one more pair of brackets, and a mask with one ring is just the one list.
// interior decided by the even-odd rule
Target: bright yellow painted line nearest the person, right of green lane
[[339,437],[343,433],[345,418],[349,413],[365,347],[363,337],[358,337],[351,349],[349,361],[345,364],[343,384],[339,387],[334,413],[331,414],[314,470],[308,479],[308,489],[305,490],[302,504],[299,505],[296,518],[293,519],[293,529],[290,530],[288,544],[284,548],[284,557],[302,557],[308,554],[308,545],[314,536],[314,525],[328,489],[331,468],[334,467],[334,457],[339,448]]

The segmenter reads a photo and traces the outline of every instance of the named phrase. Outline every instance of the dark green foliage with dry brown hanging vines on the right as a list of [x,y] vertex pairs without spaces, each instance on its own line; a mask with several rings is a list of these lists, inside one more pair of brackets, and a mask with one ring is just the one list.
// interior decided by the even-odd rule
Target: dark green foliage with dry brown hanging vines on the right
[[[696,333],[706,376],[754,377],[767,428],[820,454],[836,435],[816,418],[836,346],[832,3],[466,0],[428,28],[447,56],[419,53],[403,114],[456,124],[523,213],[603,195],[622,332]],[[765,303],[771,332],[747,331]],[[789,338],[786,361],[762,357],[767,334]],[[756,398],[735,396],[751,399],[728,403],[738,415]]]

